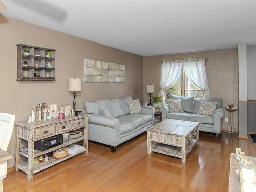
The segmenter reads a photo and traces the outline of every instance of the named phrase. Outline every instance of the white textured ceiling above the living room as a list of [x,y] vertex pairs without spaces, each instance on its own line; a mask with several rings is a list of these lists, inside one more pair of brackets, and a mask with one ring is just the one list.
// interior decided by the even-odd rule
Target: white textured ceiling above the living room
[[0,13],[142,56],[256,44],[255,0],[1,0]]

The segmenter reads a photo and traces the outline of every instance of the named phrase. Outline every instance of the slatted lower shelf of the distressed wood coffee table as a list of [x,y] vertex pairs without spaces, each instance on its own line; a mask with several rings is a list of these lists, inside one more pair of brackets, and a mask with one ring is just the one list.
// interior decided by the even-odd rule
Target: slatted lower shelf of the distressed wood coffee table
[[[196,139],[192,139],[186,146],[186,156],[192,151],[193,147],[197,144]],[[151,145],[151,151],[174,156],[178,158],[182,158],[181,156],[181,147],[176,147],[172,145],[162,144],[162,143],[156,143],[152,142]]]

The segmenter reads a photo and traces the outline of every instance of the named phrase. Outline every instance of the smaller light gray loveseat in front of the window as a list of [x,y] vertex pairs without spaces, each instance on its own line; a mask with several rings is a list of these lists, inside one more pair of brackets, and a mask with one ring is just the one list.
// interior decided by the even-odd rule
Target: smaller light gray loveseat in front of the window
[[[221,133],[221,119],[224,117],[224,110],[221,107],[222,99],[194,99],[194,97],[180,97],[175,95],[171,95],[170,99],[181,99],[181,105],[184,113],[170,113],[169,106],[164,105],[160,108],[160,112],[162,113],[162,120],[168,118],[183,121],[200,122],[200,131],[215,133],[216,137],[219,137]],[[197,114],[202,100],[218,102],[217,109],[215,110],[214,115],[209,116]]]

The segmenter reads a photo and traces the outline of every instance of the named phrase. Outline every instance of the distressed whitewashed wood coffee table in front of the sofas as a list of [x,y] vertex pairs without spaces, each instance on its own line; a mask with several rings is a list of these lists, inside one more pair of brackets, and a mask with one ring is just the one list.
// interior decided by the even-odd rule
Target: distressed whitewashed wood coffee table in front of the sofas
[[147,130],[147,153],[158,152],[181,158],[186,156],[198,144],[198,122],[165,119]]

